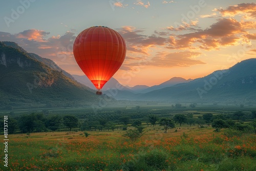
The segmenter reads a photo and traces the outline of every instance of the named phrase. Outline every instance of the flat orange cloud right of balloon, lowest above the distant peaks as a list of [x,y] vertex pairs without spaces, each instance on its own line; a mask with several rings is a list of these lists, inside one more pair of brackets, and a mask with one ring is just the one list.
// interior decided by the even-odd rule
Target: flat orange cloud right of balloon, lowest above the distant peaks
[[205,64],[201,60],[195,59],[196,57],[202,55],[200,52],[158,52],[154,56],[148,65],[158,66],[158,67],[189,67],[193,65]]

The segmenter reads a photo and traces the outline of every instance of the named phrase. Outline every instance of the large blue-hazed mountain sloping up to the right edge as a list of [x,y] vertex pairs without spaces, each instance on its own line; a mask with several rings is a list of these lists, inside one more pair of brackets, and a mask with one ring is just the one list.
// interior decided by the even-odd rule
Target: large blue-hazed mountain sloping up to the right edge
[[183,102],[256,102],[256,58],[241,61],[228,70],[176,84],[133,99]]

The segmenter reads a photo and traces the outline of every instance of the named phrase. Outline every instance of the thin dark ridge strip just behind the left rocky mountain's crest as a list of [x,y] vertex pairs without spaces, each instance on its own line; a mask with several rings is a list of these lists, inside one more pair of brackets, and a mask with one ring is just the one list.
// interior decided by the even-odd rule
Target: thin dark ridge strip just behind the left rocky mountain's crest
[[12,42],[12,41],[2,41],[6,46],[9,46],[9,47],[12,47],[12,48],[15,48],[15,49],[18,49],[20,52],[24,52],[26,53],[28,56],[30,56],[31,58],[33,59],[36,59],[42,63],[45,63],[45,65],[47,65],[48,67],[50,67],[51,69],[53,70],[56,70],[56,71],[60,71],[62,72],[64,75],[66,75],[67,77],[74,79],[74,77],[72,77],[71,74],[67,73],[66,71],[62,70],[61,68],[59,68],[56,63],[54,61],[52,61],[51,59],[47,59],[47,58],[43,58],[43,57],[40,57],[39,55],[37,54],[34,54],[34,53],[28,53],[27,51],[25,51],[22,47],[19,47],[18,44],[16,44],[15,42]]

